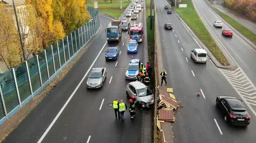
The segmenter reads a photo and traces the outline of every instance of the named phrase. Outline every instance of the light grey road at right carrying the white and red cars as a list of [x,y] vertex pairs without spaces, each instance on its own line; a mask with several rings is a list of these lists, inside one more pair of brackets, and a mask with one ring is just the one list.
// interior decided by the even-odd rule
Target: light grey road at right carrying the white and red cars
[[213,22],[220,20],[217,14],[210,8],[206,3],[207,0],[193,0],[198,8],[199,12],[202,14],[203,19],[208,24],[209,28],[220,40],[221,44],[226,47],[227,51],[234,58],[237,64],[243,69],[246,75],[251,79],[251,81],[256,85],[256,66],[254,61],[256,61],[256,50],[253,49],[251,45],[246,43],[244,39],[234,33],[232,38],[225,37],[221,35],[223,28],[229,28],[226,24],[223,24],[223,28],[215,28]]

